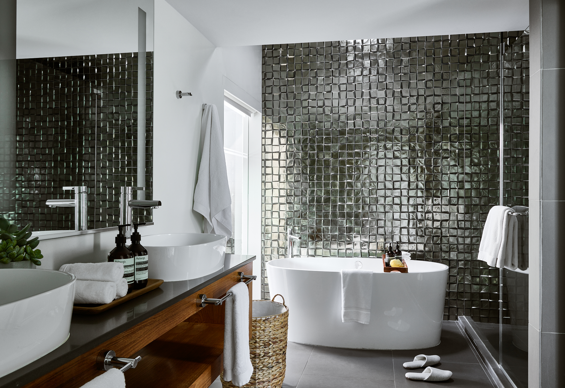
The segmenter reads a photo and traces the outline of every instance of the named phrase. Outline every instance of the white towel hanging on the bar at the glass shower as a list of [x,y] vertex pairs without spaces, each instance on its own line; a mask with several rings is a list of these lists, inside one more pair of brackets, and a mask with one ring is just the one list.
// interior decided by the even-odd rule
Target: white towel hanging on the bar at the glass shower
[[486,217],[479,260],[491,267],[518,268],[518,219],[507,206],[493,206]]

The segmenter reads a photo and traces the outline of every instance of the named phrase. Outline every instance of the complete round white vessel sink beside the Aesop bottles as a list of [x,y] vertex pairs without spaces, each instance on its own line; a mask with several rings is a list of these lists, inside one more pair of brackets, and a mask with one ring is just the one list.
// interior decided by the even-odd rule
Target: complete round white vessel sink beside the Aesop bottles
[[149,254],[149,277],[164,281],[198,279],[224,266],[228,238],[207,233],[169,233],[141,238]]

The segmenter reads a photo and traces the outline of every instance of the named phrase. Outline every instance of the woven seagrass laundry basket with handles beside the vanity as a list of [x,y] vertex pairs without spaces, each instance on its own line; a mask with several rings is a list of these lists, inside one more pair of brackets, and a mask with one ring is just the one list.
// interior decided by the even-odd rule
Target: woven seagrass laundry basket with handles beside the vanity
[[[275,302],[280,296],[282,303]],[[251,380],[244,385],[249,388],[280,388],[284,380],[286,370],[286,337],[288,335],[288,307],[284,303],[284,297],[276,294],[271,301],[253,301],[256,303],[270,303],[271,306],[263,305],[260,310],[281,310],[276,315],[266,315],[251,318],[251,340],[249,340],[249,351],[253,374]],[[272,305],[278,306],[272,306]],[[265,308],[266,307],[266,308]],[[258,309],[259,310],[259,309]],[[253,314],[255,315],[255,314]],[[263,315],[263,314],[261,314]],[[223,388],[236,387],[231,381],[224,381],[224,372],[220,374]]]

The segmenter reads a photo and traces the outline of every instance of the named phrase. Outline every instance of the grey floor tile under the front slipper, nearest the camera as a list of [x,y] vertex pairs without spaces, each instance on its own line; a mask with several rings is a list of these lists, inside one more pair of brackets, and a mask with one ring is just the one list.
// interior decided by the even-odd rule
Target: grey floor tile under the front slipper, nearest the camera
[[[434,366],[437,369],[453,372],[453,376],[447,381],[425,382],[428,384],[445,385],[453,388],[492,388],[493,385],[486,376],[480,364],[446,363]],[[421,373],[424,369],[405,369],[402,360],[394,360],[394,382],[396,388],[422,387],[422,381],[412,381],[405,377],[406,372]]]

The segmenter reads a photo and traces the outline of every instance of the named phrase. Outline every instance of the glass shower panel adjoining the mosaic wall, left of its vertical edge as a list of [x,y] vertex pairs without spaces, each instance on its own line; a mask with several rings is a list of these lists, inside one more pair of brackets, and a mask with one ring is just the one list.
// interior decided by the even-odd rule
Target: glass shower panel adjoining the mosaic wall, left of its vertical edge
[[467,49],[465,67],[465,204],[466,211],[479,233],[472,235],[473,253],[470,265],[470,292],[466,294],[468,310],[486,349],[498,358],[499,271],[476,259],[480,228],[489,209],[499,205],[499,47],[501,38],[475,39]]

